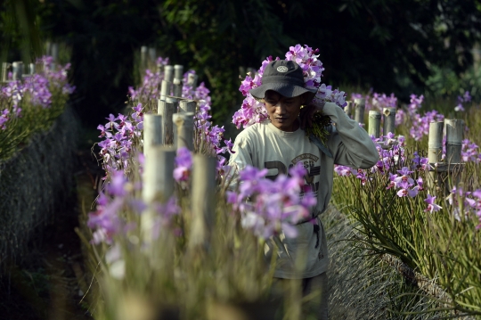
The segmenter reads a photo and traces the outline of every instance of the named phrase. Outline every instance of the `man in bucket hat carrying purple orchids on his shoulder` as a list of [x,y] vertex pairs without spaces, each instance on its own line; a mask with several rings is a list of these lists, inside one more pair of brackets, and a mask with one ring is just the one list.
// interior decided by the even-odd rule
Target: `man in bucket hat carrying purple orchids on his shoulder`
[[[319,319],[327,319],[329,255],[319,215],[330,201],[334,164],[371,168],[379,155],[367,132],[338,105],[312,103],[316,91],[305,87],[303,71],[296,62],[270,62],[262,85],[250,90],[250,94],[265,103],[269,119],[237,135],[229,163],[235,170],[248,165],[267,168],[266,178],[270,179],[288,174],[295,165],[306,168],[306,185],[302,190],[314,192],[317,198],[311,217],[295,226],[298,230],[295,238],[283,233],[279,236],[283,250],[276,250],[273,241],[267,242],[265,255],[268,261],[274,250],[278,255],[274,271],[277,283],[298,279],[303,295],[320,291],[314,301],[315,313]],[[301,110],[302,105],[306,106]],[[335,123],[326,143],[329,152],[322,152],[303,130],[310,125],[314,113],[321,111]]]

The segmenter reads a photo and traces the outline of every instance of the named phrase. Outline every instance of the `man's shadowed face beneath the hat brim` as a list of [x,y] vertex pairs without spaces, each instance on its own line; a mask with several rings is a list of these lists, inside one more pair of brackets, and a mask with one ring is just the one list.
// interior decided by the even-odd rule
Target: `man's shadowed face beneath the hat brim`
[[298,115],[304,103],[304,96],[285,97],[272,90],[267,90],[264,97],[265,109],[271,123],[282,131],[296,131],[299,127]]

